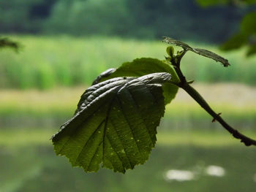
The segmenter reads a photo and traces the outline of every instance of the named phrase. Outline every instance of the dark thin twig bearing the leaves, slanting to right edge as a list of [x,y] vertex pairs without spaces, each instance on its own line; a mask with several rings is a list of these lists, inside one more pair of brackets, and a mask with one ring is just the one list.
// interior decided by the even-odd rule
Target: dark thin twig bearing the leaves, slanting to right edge
[[[184,54],[185,53],[186,53],[186,50],[184,50]],[[181,58],[184,56],[184,54],[180,55]],[[189,94],[189,96],[192,96],[192,98],[195,101],[197,101],[197,103],[204,110],[206,110],[206,112],[208,112],[208,114],[211,115],[211,117],[214,118],[213,121],[217,120],[223,126],[223,128],[225,128],[228,132],[230,132],[230,134],[233,135],[233,137],[235,137],[236,139],[240,139],[241,142],[243,142],[244,145],[246,145],[246,146],[250,146],[250,145],[256,146],[256,141],[254,139],[246,137],[244,134],[241,134],[235,128],[232,128],[229,124],[227,124],[225,122],[225,120],[223,120],[220,117],[220,114],[217,114],[216,112],[214,112],[214,110],[211,109],[211,107],[208,105],[206,100],[203,99],[203,96],[201,96],[200,93],[198,93],[195,90],[195,88],[192,88],[192,86],[189,85],[189,82],[187,82],[186,77],[184,77],[184,74],[181,72],[181,68],[180,68],[181,58],[178,57],[177,59],[173,59],[173,61],[172,61],[172,65],[174,66],[174,69],[176,70],[176,73],[178,74],[178,77],[181,80],[181,82],[176,83],[176,85],[178,85],[178,87],[184,89],[184,91],[186,91]]]

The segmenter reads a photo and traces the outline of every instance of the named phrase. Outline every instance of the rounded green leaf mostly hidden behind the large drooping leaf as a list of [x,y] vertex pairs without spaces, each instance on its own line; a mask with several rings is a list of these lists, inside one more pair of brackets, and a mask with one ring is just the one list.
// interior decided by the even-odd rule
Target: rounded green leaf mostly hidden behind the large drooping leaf
[[[126,62],[122,64],[116,71],[112,71],[108,77],[102,77],[99,81],[110,80],[113,77],[140,77],[145,74],[167,72],[172,75],[172,82],[179,82],[178,76],[173,69],[173,66],[166,61],[160,61],[155,58],[137,58],[132,62]],[[105,73],[105,72],[103,72]],[[172,83],[165,83],[163,85],[165,104],[170,103],[178,92],[178,87]]]

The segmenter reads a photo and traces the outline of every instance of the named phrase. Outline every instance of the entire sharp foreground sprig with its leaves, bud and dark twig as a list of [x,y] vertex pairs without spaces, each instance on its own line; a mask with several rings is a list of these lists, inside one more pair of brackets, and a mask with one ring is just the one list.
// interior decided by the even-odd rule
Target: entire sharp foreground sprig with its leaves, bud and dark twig
[[[97,172],[102,164],[114,172],[124,173],[144,164],[157,140],[157,126],[164,115],[165,104],[174,99],[178,87],[216,118],[217,114],[203,97],[189,86],[180,61],[187,50],[222,62],[224,66],[229,65],[227,60],[169,37],[164,41],[184,50],[173,55],[173,48],[168,47],[171,61],[168,58],[165,62],[135,59],[118,69],[108,69],[94,80],[81,96],[74,117],[52,137],[57,155],[66,155],[72,166],[82,166],[85,172]],[[243,138],[238,131],[235,134],[234,137]],[[244,139],[241,141],[252,145]]]

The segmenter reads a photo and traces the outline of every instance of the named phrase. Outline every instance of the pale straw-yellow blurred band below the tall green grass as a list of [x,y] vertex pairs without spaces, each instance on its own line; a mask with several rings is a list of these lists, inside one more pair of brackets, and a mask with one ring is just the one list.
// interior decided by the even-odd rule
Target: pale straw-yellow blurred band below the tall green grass
[[[256,113],[256,88],[239,84],[193,84],[199,93],[213,108],[221,108],[226,113]],[[48,91],[36,89],[20,91],[15,89],[0,90],[0,112],[31,112],[43,114],[51,112],[75,112],[76,105],[85,87],[56,88]],[[179,110],[178,110],[179,109]],[[176,99],[167,105],[167,113],[188,110],[193,113],[203,112],[198,104],[183,90],[179,89]],[[174,114],[173,114],[174,115]]]

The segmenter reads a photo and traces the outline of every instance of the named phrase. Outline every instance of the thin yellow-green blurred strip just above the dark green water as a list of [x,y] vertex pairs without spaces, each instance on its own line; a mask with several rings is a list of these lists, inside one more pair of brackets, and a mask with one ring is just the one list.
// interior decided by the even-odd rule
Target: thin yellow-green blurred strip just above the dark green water
[[[51,145],[50,137],[55,134],[53,128],[22,128],[0,130],[0,147],[26,147]],[[256,138],[256,131],[244,131],[249,137]],[[223,147],[241,145],[238,139],[233,138],[227,131],[159,131],[157,145],[195,145],[204,147]]]

